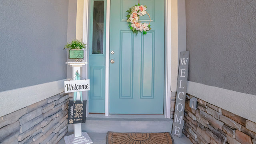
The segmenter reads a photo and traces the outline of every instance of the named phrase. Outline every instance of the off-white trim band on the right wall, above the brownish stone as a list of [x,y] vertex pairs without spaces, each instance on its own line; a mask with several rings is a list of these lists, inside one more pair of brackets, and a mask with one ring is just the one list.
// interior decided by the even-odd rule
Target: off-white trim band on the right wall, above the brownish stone
[[188,81],[187,93],[256,122],[256,96]]

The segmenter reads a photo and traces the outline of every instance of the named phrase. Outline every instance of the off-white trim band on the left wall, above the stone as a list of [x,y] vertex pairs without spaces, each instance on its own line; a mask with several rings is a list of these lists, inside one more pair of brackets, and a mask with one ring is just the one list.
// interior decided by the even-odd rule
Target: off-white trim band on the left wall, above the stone
[[64,80],[0,92],[0,117],[64,92]]

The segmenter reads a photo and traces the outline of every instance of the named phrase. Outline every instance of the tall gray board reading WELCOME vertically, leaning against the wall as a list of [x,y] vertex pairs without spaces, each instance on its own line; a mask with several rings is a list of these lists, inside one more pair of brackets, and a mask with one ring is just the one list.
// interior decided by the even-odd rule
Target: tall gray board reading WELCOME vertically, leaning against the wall
[[172,134],[181,138],[182,129],[184,125],[184,110],[185,110],[185,99],[187,92],[187,81],[188,81],[188,61],[189,51],[180,52],[180,64],[178,73],[178,85],[176,94],[176,104],[174,119],[172,125]]

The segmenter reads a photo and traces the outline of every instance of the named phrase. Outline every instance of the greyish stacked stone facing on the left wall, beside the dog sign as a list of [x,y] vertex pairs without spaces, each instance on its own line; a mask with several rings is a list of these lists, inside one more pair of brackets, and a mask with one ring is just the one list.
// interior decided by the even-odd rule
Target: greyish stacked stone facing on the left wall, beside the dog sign
[[58,143],[68,132],[68,100],[62,92],[0,117],[0,143]]

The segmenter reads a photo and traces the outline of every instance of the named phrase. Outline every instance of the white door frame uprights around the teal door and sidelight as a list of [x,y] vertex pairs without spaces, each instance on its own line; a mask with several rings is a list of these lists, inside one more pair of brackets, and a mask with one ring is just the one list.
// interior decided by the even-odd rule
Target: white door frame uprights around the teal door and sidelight
[[[88,4],[84,0],[84,42],[88,44]],[[109,40],[110,40],[110,0],[106,2],[106,76],[105,76],[105,116],[109,116]],[[165,70],[164,70],[164,116],[170,118],[171,110],[171,0],[164,0],[165,7]],[[86,52],[87,53],[87,52]],[[88,61],[88,55],[87,55]],[[88,67],[83,74],[87,76]],[[88,96],[86,94],[86,99]],[[88,104],[87,104],[88,106]],[[88,110],[87,110],[88,111]],[[87,113],[88,114],[88,113]]]

